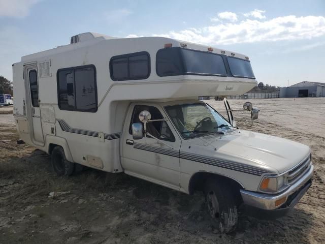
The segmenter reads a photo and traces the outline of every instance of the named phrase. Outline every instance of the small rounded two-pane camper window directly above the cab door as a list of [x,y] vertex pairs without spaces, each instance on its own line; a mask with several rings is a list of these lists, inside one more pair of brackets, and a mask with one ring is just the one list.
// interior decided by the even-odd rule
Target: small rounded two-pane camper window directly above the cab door
[[113,56],[110,60],[110,75],[114,81],[147,79],[150,75],[150,55],[136,52]]

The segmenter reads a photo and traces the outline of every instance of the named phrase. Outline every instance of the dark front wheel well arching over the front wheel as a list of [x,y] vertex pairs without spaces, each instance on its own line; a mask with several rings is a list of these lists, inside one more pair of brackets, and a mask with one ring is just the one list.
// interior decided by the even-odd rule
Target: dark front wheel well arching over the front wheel
[[213,178],[216,182],[226,182],[226,184],[234,191],[236,194],[236,198],[238,199],[238,203],[242,201],[240,189],[243,189],[243,186],[236,180],[229,178],[227,176],[209,173],[209,172],[197,172],[192,175],[188,184],[188,192],[192,195],[195,191],[204,191],[205,182],[207,179]]

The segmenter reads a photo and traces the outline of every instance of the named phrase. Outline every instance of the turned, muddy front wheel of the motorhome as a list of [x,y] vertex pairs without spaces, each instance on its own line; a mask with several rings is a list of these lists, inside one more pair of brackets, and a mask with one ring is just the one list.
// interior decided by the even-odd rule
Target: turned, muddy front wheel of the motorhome
[[215,220],[221,233],[229,233],[236,229],[238,212],[235,194],[225,182],[208,179],[205,196],[209,214]]

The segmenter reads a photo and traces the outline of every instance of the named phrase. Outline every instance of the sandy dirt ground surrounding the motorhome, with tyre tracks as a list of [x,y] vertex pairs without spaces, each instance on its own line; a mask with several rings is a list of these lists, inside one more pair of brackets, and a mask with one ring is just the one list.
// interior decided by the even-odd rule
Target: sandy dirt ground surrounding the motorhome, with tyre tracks
[[[240,109],[246,101],[230,104]],[[206,102],[224,111],[222,102]],[[265,221],[240,212],[237,232],[220,234],[201,193],[92,169],[57,177],[49,156],[16,144],[12,114],[0,114],[0,243],[325,243],[325,99],[251,102],[259,118],[249,127],[248,112],[234,113],[240,129],[312,149],[313,185],[288,216]]]

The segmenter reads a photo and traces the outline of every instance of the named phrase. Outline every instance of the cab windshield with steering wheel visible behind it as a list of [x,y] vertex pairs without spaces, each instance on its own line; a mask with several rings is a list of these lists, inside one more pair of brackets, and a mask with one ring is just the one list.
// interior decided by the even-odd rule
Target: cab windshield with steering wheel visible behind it
[[229,130],[231,125],[205,103],[165,107],[177,130],[185,139]]

